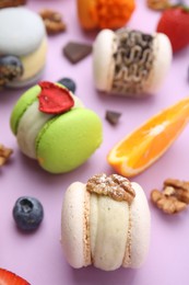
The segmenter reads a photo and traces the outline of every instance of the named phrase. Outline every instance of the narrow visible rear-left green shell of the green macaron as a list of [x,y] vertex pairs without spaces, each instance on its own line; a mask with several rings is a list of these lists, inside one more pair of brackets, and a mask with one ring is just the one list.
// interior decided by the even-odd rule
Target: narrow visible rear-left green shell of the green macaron
[[10,119],[10,125],[12,133],[16,135],[17,133],[17,126],[20,118],[24,114],[24,112],[27,110],[27,107],[37,100],[37,95],[40,93],[42,88],[39,86],[35,86],[31,89],[28,89],[16,102]]

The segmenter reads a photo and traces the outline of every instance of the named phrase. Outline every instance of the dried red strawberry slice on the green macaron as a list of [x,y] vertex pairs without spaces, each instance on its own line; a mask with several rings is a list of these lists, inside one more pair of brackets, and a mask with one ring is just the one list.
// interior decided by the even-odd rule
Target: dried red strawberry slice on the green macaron
[[47,114],[61,114],[69,111],[74,105],[74,100],[70,91],[60,88],[51,82],[43,81],[38,83],[42,91],[38,95],[39,111]]

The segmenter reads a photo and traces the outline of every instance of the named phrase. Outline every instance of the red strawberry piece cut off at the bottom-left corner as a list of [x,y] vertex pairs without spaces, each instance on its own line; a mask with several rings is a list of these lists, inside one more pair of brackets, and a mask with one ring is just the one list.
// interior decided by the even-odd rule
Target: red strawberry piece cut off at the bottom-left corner
[[10,271],[0,269],[0,285],[29,285],[29,283]]

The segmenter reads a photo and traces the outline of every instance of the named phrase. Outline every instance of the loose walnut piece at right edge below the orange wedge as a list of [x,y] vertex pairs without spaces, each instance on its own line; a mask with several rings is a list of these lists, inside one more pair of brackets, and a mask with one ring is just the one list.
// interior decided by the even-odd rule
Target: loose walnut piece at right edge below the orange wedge
[[163,192],[153,190],[151,198],[154,204],[167,214],[176,214],[189,204],[189,182],[167,179]]

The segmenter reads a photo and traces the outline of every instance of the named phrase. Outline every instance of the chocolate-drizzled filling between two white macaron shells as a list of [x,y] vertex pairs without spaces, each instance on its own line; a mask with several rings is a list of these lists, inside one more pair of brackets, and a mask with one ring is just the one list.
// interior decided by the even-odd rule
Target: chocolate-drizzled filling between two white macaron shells
[[154,36],[127,29],[116,33],[111,92],[143,93],[155,59]]

